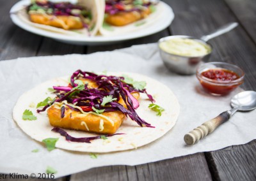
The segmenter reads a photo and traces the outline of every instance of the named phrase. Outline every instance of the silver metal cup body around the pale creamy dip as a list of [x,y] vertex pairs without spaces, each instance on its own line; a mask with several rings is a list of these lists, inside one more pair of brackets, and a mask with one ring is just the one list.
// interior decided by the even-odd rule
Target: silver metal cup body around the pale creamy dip
[[[160,43],[162,43],[163,41],[174,39],[174,38],[184,38],[184,39],[186,38],[186,39],[193,39],[195,41],[199,41],[200,43],[203,43],[204,45],[207,45],[209,47],[209,53],[199,57],[188,57],[188,56],[170,54],[160,48]],[[202,61],[208,61],[212,52],[211,44],[206,43],[206,41],[201,40],[199,38],[195,38],[193,36],[182,36],[182,35],[166,36],[164,38],[161,38],[158,41],[158,47],[159,47],[161,58],[166,68],[170,69],[170,71],[173,71],[175,73],[179,73],[182,75],[195,74],[196,68],[198,68],[199,64]]]

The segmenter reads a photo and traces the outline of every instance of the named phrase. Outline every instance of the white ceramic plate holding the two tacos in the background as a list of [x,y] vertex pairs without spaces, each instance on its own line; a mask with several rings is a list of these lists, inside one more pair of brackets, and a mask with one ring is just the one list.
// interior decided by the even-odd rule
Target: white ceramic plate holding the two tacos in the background
[[138,29],[138,31],[133,31],[131,33],[126,33],[118,36],[70,36],[68,34],[54,33],[44,29],[39,29],[38,27],[34,27],[33,25],[26,24],[26,22],[22,21],[18,15],[13,13],[24,8],[24,6],[27,6],[30,2],[30,0],[22,0],[13,5],[12,9],[10,10],[10,17],[12,18],[14,24],[31,33],[35,33],[41,36],[52,38],[57,41],[74,45],[102,45],[115,43],[116,41],[131,40],[134,38],[148,36],[150,34],[162,31],[163,29],[168,27],[168,25],[171,24],[174,18],[172,8],[170,8],[170,6],[168,6],[168,4],[166,3],[159,2],[164,6],[161,15],[159,15],[159,20],[155,24],[150,24],[150,26],[147,26],[143,29]]

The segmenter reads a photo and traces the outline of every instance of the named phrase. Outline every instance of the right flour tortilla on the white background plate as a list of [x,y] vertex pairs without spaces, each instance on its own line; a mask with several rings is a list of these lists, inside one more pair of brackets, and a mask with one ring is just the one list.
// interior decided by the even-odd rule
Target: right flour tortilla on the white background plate
[[[105,3],[103,6],[105,10]],[[133,22],[132,24],[124,26],[114,26],[103,23],[99,28],[99,33],[102,34],[102,36],[118,36],[134,31],[139,31],[140,29],[147,29],[152,24],[157,22],[157,20],[161,17],[161,12],[164,10],[164,4],[161,1],[158,1],[158,3],[154,6],[156,6],[156,11],[150,13],[147,18],[143,18]]]

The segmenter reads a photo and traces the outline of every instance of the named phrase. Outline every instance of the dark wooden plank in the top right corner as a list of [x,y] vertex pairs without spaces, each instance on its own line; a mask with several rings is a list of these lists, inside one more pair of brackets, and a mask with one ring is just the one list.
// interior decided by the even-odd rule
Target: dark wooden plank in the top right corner
[[255,0],[225,0],[236,15],[237,20],[243,25],[245,31],[256,43],[256,2]]

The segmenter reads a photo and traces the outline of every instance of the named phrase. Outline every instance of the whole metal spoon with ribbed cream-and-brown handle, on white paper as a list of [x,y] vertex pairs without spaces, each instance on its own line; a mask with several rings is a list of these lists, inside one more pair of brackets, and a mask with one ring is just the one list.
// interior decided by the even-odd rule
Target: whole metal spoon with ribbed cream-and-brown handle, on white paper
[[204,122],[201,126],[196,127],[188,134],[185,134],[184,141],[188,145],[194,145],[197,141],[212,133],[218,126],[223,122],[226,122],[234,113],[237,111],[250,111],[256,108],[256,92],[255,91],[244,91],[236,94],[231,99],[230,105],[231,110],[221,113],[214,119]]

